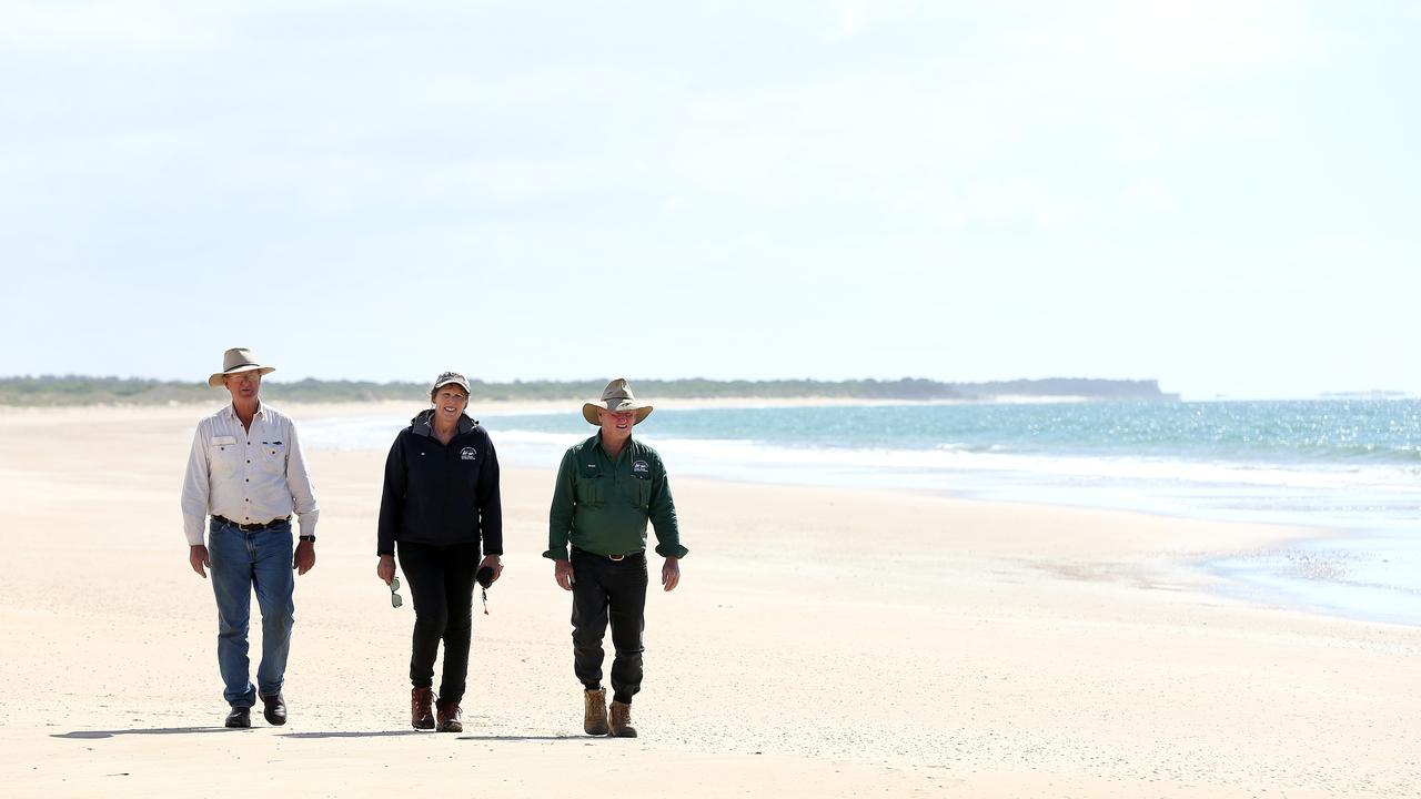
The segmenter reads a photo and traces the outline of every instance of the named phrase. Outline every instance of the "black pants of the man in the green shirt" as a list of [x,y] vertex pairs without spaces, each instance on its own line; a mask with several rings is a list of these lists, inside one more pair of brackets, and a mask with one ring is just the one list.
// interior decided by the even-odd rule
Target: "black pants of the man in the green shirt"
[[612,698],[641,691],[641,634],[647,628],[647,554],[611,560],[573,549],[573,671],[587,688],[603,684],[603,633],[612,623]]

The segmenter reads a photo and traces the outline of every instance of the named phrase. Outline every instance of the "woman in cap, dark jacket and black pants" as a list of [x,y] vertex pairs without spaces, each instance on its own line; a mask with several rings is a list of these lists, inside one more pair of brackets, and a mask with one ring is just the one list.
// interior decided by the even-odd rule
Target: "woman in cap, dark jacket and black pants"
[[[399,567],[415,600],[415,640],[409,657],[411,724],[463,732],[465,680],[473,631],[473,583],[480,569],[503,573],[503,512],[499,458],[479,422],[465,415],[469,381],[443,372],[429,390],[433,408],[399,431],[385,459],[379,500],[379,564],[388,586]],[[483,560],[479,560],[479,545]],[[439,699],[433,697],[435,657],[445,644]]]

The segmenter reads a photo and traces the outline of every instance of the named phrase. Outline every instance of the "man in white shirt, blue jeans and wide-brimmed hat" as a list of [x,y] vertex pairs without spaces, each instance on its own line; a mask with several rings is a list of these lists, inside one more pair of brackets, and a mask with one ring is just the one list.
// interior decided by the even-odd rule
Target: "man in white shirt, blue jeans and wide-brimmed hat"
[[[296,425],[261,404],[263,367],[246,348],[227,350],[222,371],[207,378],[232,404],[198,424],[182,486],[188,562],[203,579],[212,570],[217,597],[217,665],[232,705],[227,726],[252,726],[260,697],[267,724],[286,724],[286,658],[291,651],[291,596],[296,577],[315,566],[315,519],[320,509],[306,473]],[[301,540],[291,549],[291,512]],[[209,540],[203,522],[212,516]],[[257,685],[249,678],[247,620],[252,591],[261,608],[261,663]]]

